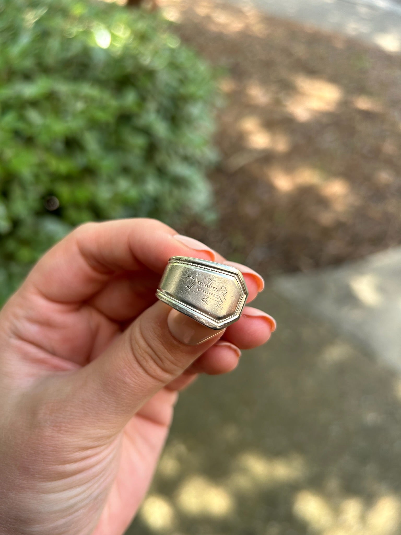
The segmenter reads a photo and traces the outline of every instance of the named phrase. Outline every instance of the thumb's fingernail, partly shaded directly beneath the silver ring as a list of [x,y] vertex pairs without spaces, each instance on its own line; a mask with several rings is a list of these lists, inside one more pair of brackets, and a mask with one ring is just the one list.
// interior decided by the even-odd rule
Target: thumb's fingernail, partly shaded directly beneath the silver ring
[[179,342],[186,343],[187,346],[197,346],[211,338],[219,338],[224,332],[224,329],[214,331],[214,329],[205,327],[205,325],[175,309],[169,312],[167,325],[173,337]]

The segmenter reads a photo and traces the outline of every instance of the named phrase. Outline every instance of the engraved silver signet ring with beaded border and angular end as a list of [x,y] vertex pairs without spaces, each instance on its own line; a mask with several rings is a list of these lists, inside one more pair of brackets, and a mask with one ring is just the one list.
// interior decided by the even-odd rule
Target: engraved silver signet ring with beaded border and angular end
[[248,297],[241,271],[187,256],[169,259],[156,296],[215,330],[240,319]]

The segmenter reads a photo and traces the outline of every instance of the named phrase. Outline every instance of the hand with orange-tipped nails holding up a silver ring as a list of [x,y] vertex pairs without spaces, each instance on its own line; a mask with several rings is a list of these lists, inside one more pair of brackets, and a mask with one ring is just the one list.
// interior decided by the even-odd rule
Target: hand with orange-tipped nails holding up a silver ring
[[[274,320],[212,331],[156,300],[168,258],[225,260],[151,219],[76,228],[0,312],[1,535],[121,535],[181,388],[235,368]],[[263,279],[241,266],[249,299]]]

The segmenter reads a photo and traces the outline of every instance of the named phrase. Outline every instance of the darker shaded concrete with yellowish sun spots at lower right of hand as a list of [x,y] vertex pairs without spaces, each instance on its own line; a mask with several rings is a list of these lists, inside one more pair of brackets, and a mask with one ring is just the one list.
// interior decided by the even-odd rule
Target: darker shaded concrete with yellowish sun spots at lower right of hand
[[258,305],[279,328],[181,395],[128,533],[400,533],[399,377],[271,291]]

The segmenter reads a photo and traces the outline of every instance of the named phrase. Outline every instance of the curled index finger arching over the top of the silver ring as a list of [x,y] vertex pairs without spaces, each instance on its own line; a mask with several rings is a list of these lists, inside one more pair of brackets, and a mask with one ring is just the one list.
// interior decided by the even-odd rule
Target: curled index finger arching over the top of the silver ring
[[176,231],[156,219],[86,223],[52,247],[29,273],[24,287],[51,301],[86,301],[124,271],[163,273],[172,256],[215,260],[214,251],[195,250],[176,240]]

